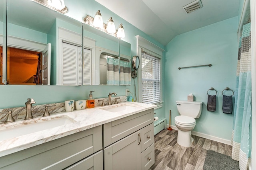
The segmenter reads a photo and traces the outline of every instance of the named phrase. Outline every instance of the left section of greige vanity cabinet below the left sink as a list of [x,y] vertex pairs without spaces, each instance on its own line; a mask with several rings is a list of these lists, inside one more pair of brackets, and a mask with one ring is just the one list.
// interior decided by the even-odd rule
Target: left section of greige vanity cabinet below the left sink
[[95,169],[102,169],[102,125],[3,156],[0,169],[76,170],[84,164],[90,169],[95,162]]

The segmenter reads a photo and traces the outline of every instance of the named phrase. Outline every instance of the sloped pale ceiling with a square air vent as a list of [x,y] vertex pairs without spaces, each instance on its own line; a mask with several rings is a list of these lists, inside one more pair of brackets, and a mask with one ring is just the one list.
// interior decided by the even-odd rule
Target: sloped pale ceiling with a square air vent
[[186,14],[182,7],[194,0],[96,1],[163,45],[176,35],[238,16],[240,5],[240,0],[201,0],[203,8]]

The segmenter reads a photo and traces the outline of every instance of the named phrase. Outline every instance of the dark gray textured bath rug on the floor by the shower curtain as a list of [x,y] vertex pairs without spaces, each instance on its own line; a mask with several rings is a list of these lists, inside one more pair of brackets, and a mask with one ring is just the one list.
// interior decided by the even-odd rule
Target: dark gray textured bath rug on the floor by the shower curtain
[[230,156],[207,150],[204,170],[239,170],[239,162]]

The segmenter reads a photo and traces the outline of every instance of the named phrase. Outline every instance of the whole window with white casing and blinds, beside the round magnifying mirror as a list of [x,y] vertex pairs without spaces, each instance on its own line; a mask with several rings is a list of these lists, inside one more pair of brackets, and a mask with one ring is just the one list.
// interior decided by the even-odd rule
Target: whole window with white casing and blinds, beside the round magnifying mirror
[[[140,35],[136,35],[137,55],[140,57],[138,69],[139,102],[163,106],[162,99],[162,57],[164,49],[154,45]],[[135,81],[134,81],[135,83]],[[136,92],[136,86],[134,86]]]

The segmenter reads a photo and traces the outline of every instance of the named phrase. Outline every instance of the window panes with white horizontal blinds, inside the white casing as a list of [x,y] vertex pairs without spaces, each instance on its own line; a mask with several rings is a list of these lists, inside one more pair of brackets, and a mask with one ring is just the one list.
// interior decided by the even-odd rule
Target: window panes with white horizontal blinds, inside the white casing
[[142,52],[142,103],[161,102],[160,59]]

